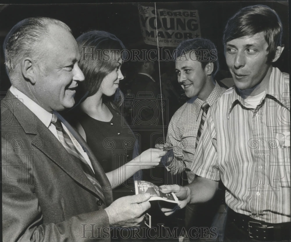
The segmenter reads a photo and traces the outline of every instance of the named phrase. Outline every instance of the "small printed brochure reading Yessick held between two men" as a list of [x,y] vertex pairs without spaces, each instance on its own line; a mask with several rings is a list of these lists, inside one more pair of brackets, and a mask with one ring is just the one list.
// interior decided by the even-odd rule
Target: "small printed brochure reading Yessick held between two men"
[[146,181],[134,181],[135,194],[150,193],[149,201],[162,200],[179,204],[179,200],[174,193],[164,194],[160,192],[161,188]]

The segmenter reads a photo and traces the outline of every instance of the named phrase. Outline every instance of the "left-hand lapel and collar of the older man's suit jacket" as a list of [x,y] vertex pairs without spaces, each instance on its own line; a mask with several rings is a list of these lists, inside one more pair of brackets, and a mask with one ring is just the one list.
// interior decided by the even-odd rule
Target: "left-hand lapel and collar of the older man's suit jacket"
[[[72,156],[65,150],[63,145],[52,134],[52,132],[29,110],[25,105],[19,105],[17,99],[9,90],[2,102],[10,102],[10,112],[18,120],[26,134],[31,134],[42,140],[42,145],[37,148],[52,162],[56,163],[72,179],[100,197],[93,184],[88,180],[84,172],[72,161]],[[17,108],[15,108],[17,107]],[[36,148],[36,147],[35,147]],[[57,151],[57,152],[56,152]],[[37,161],[36,161],[37,162]],[[108,180],[108,179],[107,179]]]

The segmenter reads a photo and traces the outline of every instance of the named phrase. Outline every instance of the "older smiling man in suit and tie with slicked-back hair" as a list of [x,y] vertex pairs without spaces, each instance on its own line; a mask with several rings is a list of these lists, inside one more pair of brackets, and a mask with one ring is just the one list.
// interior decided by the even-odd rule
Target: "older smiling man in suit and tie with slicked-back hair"
[[56,112],[74,105],[84,75],[70,28],[24,19],[4,41],[11,88],[1,101],[3,241],[110,240],[138,225],[149,194],[112,202],[86,143]]

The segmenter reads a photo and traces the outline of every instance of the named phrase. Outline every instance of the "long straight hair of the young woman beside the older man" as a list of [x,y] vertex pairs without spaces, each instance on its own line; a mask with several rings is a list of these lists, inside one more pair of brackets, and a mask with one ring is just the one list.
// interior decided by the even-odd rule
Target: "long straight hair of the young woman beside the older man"
[[[116,68],[118,60],[125,59],[125,46],[115,35],[106,31],[89,31],[77,39],[81,53],[80,68],[85,76],[85,81],[80,83],[81,92],[86,97],[94,95],[107,74]],[[118,88],[112,97],[104,97],[104,102],[114,109],[121,106],[123,93]]]

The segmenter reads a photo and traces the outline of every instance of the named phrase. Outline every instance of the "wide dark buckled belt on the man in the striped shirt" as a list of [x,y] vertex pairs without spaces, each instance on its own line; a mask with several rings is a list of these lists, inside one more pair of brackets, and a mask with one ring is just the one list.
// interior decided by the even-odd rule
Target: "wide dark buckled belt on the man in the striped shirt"
[[228,219],[244,230],[250,238],[260,241],[290,241],[291,223],[266,223],[250,216],[228,210]]

